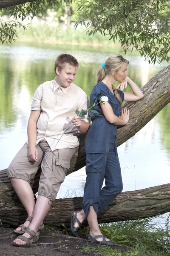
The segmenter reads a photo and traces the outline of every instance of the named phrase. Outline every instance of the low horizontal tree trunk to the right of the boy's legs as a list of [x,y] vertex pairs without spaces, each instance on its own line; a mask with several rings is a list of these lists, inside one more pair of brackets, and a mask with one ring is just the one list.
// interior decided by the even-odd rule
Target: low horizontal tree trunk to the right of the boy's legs
[[[62,223],[70,224],[70,213],[82,209],[82,198],[58,199],[45,218],[45,223],[59,227]],[[170,183],[122,192],[109,204],[104,212],[99,213],[99,223],[127,221],[146,218],[170,211]],[[87,224],[87,223],[86,223]]]

